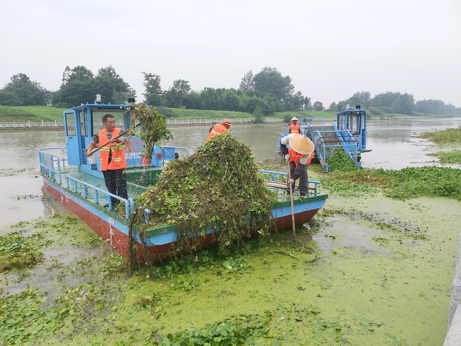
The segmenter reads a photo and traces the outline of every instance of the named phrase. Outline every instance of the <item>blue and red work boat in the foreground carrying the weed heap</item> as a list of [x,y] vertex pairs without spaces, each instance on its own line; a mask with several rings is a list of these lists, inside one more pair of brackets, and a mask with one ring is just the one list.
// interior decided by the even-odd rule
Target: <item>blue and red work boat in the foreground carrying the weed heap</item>
[[[95,233],[112,246],[119,254],[128,257],[128,223],[130,211],[135,208],[133,198],[147,190],[149,185],[154,185],[156,176],[164,167],[165,161],[175,160],[178,155],[189,156],[187,148],[179,147],[155,147],[149,170],[142,164],[140,153],[144,150],[141,138],[131,137],[131,152],[127,157],[126,177],[128,182],[128,196],[126,200],[113,195],[106,190],[104,177],[100,169],[99,152],[91,157],[84,155],[94,134],[102,128],[102,115],[111,113],[114,115],[117,127],[128,129],[130,127],[130,111],[133,107],[129,103],[124,105],[102,104],[95,101],[94,104],[82,104],[64,111],[65,143],[67,156],[56,154],[61,148],[39,149],[40,170],[43,177],[44,187],[47,193],[57,203],[71,210]],[[278,175],[286,175],[281,172],[262,171],[269,174],[271,179],[266,180],[266,185],[271,189],[282,189],[286,183],[276,180]],[[328,197],[325,193],[317,191],[316,181],[309,181],[310,193],[307,198],[296,198],[295,193],[294,211],[295,223],[301,225],[311,220],[319,209],[325,204]],[[118,199],[125,205],[126,219],[118,215],[112,209],[113,199]],[[108,208],[103,207],[105,203]],[[290,198],[281,196],[278,203],[272,204],[274,225],[279,230],[292,227]],[[149,210],[145,210],[146,222]],[[136,228],[135,228],[136,229]],[[142,256],[142,242],[139,234],[134,232],[136,242]],[[257,234],[257,233],[255,233]],[[153,255],[154,262],[160,262],[171,253],[172,246],[176,241],[176,231],[171,226],[160,226],[149,229],[143,235],[143,242],[149,253]],[[202,249],[215,245],[212,230],[196,237]]]

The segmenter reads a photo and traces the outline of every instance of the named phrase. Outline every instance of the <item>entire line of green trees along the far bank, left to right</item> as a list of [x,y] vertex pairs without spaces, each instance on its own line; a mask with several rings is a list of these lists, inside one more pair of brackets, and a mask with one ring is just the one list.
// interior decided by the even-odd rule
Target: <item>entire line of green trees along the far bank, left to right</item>
[[[238,89],[204,88],[191,90],[189,81],[177,79],[170,88],[161,88],[160,76],[142,72],[144,76],[142,94],[149,105],[159,107],[183,107],[189,109],[240,111],[265,115],[286,111],[323,111],[322,102],[311,103],[311,98],[295,92],[289,75],[283,76],[275,67],[266,66],[254,74],[252,70],[244,74]],[[136,90],[130,87],[115,72],[112,66],[102,67],[95,75],[85,66],[67,66],[62,84],[56,91],[43,88],[40,83],[31,81],[24,73],[12,76],[11,81],[0,89],[2,106],[55,106],[69,108],[81,103],[93,102],[96,94],[102,101],[112,104],[124,104],[129,97],[136,97]],[[441,100],[414,100],[414,95],[400,92],[385,92],[371,97],[369,91],[359,91],[346,100],[332,102],[328,111],[344,110],[361,105],[371,115],[383,113],[441,113],[461,114],[461,107]]]

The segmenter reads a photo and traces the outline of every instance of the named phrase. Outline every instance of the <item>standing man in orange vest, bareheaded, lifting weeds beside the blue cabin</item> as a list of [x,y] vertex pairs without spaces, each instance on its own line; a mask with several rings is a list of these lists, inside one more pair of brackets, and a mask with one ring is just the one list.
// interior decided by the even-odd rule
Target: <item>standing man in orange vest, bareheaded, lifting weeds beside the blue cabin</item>
[[[91,156],[91,151],[95,149],[98,143],[104,144],[107,140],[110,140],[110,143],[99,150],[99,161],[101,162],[104,182],[106,183],[107,191],[118,197],[128,199],[126,175],[124,173],[126,168],[125,148],[121,150],[114,149],[117,145],[116,143],[124,142],[125,138],[112,139],[122,131],[115,127],[115,118],[112,114],[105,114],[102,117],[102,125],[104,125],[105,129],[99,130],[93,136],[88,149],[85,150],[85,156]],[[112,198],[112,206],[116,206],[118,203],[120,203],[120,200]],[[108,207],[109,203],[104,206]]]

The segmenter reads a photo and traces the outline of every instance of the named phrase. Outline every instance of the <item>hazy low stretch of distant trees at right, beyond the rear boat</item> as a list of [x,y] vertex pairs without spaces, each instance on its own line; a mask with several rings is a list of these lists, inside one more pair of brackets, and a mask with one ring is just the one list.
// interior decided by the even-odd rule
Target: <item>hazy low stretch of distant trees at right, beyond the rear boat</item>
[[441,113],[441,114],[461,114],[461,107],[456,108],[451,103],[445,104],[441,100],[420,100],[414,101],[414,95],[400,92],[387,91],[371,97],[369,91],[358,91],[348,99],[332,102],[328,110],[339,112],[347,105],[355,107],[361,105],[367,109],[371,115],[380,116],[383,113],[408,114],[414,113]]

